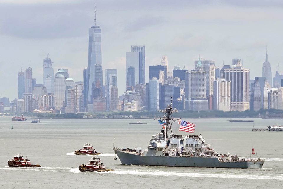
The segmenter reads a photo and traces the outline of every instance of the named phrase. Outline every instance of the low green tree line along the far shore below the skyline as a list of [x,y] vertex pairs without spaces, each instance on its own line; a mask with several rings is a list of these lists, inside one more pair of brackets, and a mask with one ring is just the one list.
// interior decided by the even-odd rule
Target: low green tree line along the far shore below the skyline
[[[38,118],[156,118],[163,117],[160,112],[136,111],[136,112],[103,112],[103,113],[66,113],[66,114],[37,114]],[[283,118],[283,110],[261,109],[259,111],[179,111],[173,114],[175,118]]]

